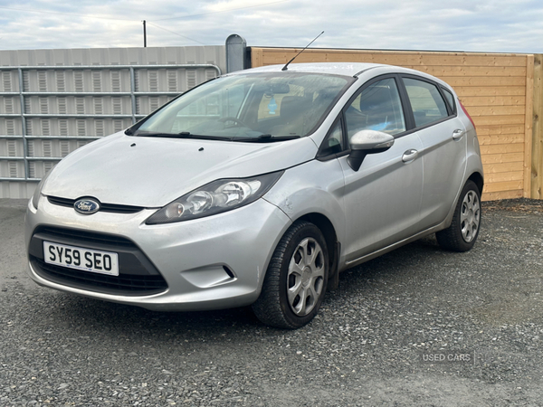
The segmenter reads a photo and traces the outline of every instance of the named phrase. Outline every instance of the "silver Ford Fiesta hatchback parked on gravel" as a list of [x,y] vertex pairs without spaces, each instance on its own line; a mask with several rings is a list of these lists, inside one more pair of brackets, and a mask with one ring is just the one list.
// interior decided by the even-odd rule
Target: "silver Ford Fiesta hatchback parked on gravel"
[[65,157],[28,204],[28,270],[155,310],[252,305],[302,327],[338,272],[481,226],[477,135],[450,86],[366,63],[238,71]]

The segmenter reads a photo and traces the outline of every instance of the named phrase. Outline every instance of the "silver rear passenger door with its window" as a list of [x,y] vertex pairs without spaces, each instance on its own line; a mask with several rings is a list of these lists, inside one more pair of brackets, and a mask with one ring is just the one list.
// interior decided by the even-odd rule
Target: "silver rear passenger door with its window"
[[467,164],[466,129],[456,116],[449,90],[417,76],[403,76],[402,80],[414,126],[423,143],[421,225],[428,228],[443,222],[462,189]]

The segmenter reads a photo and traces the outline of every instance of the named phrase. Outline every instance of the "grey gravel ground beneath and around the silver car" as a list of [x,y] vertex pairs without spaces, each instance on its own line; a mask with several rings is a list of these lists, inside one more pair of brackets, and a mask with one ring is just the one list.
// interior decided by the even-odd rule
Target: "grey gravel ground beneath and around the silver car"
[[427,238],[345,271],[297,331],[40,288],[23,205],[0,200],[1,406],[543,405],[543,202],[483,203],[468,253]]

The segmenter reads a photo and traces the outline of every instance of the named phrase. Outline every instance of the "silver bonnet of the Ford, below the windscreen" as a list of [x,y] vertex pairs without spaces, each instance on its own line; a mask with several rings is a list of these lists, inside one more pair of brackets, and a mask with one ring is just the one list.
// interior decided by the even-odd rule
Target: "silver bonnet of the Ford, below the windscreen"
[[43,194],[91,196],[107,204],[161,207],[221,178],[243,178],[300,165],[315,157],[310,137],[277,143],[104,137],[66,156]]

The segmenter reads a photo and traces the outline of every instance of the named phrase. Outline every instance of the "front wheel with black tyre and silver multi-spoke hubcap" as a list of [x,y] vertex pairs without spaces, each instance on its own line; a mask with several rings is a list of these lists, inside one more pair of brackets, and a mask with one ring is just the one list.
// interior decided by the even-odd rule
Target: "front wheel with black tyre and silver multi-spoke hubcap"
[[303,327],[319,312],[328,276],[329,254],[322,232],[313,223],[295,222],[273,252],[252,310],[271,327]]

